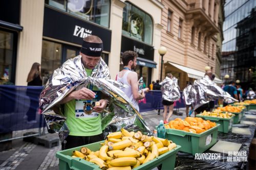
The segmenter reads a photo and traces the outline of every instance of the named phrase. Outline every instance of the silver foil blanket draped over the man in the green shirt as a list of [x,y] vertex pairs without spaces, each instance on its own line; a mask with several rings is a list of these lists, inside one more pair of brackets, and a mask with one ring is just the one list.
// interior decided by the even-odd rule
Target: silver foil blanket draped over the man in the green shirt
[[[93,69],[92,75],[87,76],[79,55],[67,60],[54,70],[52,77],[40,94],[39,106],[46,119],[48,131],[59,133],[61,142],[68,136],[69,129],[65,123],[66,117],[63,115],[62,107],[58,102],[71,91],[87,87],[88,84],[96,86],[111,99],[109,110],[104,110],[101,113],[102,130],[105,129],[104,135],[108,132],[119,131],[121,128],[131,131],[140,130],[147,134],[152,133],[140,113],[130,104],[129,98],[120,90],[126,85],[110,80],[109,68],[105,62],[101,59]],[[55,113],[51,110],[54,110]]]

